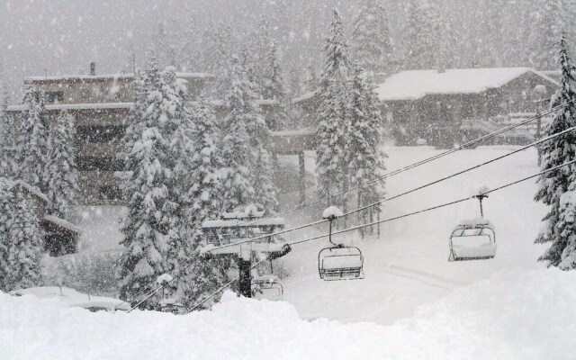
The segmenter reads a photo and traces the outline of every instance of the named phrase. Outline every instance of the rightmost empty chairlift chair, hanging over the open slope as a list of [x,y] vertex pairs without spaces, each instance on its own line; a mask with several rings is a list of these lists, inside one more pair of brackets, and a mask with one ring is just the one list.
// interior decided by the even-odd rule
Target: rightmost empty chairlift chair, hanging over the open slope
[[486,197],[485,194],[476,196],[480,201],[481,218],[461,221],[452,231],[448,261],[484,260],[496,256],[494,225],[483,218],[482,199]]

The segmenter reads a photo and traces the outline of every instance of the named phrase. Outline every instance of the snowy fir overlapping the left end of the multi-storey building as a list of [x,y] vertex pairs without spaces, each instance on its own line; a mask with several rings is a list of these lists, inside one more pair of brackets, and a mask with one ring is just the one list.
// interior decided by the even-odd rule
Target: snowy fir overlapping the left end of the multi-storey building
[[24,110],[16,144],[19,177],[26,183],[46,191],[44,172],[48,155],[48,112],[43,92],[35,92],[24,83]]

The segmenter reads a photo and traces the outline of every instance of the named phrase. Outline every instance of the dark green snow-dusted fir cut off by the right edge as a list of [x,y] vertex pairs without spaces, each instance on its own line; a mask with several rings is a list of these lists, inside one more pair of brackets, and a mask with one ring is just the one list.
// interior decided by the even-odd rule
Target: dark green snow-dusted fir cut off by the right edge
[[[560,66],[562,68],[561,88],[554,94],[551,106],[565,106],[556,113],[554,120],[545,131],[546,136],[576,126],[576,85],[572,58],[568,55],[567,40],[562,36],[560,40]],[[576,135],[569,132],[542,146],[542,170],[559,166],[576,160]],[[546,214],[545,229],[536,238],[536,243],[552,242],[545,254],[539,260],[548,262],[548,266],[562,268],[576,267],[576,240],[572,236],[574,223],[569,221],[569,213],[573,210],[574,192],[576,191],[576,166],[563,166],[548,172],[538,178],[539,190],[535,200],[550,206]]]

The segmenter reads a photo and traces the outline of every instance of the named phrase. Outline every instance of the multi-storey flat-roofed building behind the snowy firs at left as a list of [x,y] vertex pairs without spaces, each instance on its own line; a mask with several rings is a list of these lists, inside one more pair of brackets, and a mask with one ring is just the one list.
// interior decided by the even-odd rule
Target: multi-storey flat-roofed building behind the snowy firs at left
[[[49,124],[54,124],[58,113],[66,110],[76,120],[76,165],[78,166],[79,204],[121,204],[119,179],[114,175],[123,169],[117,157],[123,150],[121,139],[125,121],[133,105],[133,74],[71,76],[31,76],[36,91],[44,91]],[[177,73],[187,81],[188,94],[195,99],[215,76],[204,73]],[[273,116],[275,101],[258,100],[266,120]],[[213,101],[218,118],[225,116],[222,101]],[[16,119],[21,116],[22,105],[8,107]]]

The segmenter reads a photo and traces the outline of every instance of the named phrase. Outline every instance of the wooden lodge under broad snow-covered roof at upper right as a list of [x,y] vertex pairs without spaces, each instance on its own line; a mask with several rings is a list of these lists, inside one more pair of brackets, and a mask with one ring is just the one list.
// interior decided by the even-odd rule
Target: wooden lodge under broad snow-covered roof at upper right
[[[527,67],[410,70],[374,80],[396,144],[437,147],[452,147],[519,115],[527,118],[559,88],[550,76]],[[294,102],[313,113],[318,96],[305,94]],[[530,136],[513,131],[502,140],[526,142]]]

